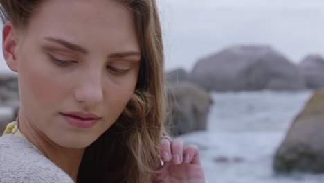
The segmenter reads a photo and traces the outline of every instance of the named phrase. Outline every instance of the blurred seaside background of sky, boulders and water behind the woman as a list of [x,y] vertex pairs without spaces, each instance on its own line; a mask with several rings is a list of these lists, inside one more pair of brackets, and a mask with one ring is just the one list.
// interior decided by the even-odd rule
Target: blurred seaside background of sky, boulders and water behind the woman
[[[170,129],[207,182],[323,182],[324,1],[157,1]],[[1,130],[19,101],[0,55]]]

